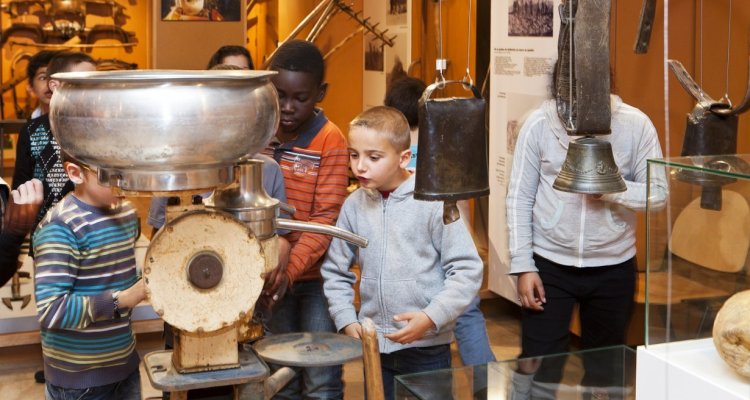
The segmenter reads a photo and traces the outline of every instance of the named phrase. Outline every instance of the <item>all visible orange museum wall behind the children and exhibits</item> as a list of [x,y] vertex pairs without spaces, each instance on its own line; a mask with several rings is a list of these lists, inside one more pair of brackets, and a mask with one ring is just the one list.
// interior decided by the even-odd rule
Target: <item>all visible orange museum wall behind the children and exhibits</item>
[[[364,0],[350,2],[352,7],[360,10]],[[99,44],[110,43],[112,47],[101,47],[91,50],[95,58],[114,58],[137,64],[138,68],[202,68],[208,55],[218,43],[241,44],[246,40],[257,65],[272,53],[276,43],[294,29],[294,27],[318,3],[316,0],[268,0],[255,2],[249,16],[239,23],[222,22],[163,22],[155,18],[158,10],[157,3],[144,0],[120,2],[125,8],[127,19],[122,28],[135,33],[138,44],[132,47],[117,46],[116,41],[100,41]],[[243,1],[243,3],[245,3]],[[472,2],[472,27],[476,28],[477,1]],[[433,0],[412,0],[412,60],[409,72],[427,82],[435,79],[435,59],[437,57],[438,42],[436,38],[438,2]],[[461,79],[465,74],[467,57],[467,17],[468,1],[443,0],[443,57],[448,60],[445,71],[446,79]],[[703,4],[703,12],[700,5]],[[741,101],[747,85],[748,75],[748,38],[747,23],[750,20],[750,2],[732,3],[731,49],[729,96],[733,102]],[[704,89],[714,98],[724,95],[726,43],[728,27],[728,7],[725,1],[686,0],[670,2],[669,6],[669,57],[680,60],[693,74],[696,81],[702,83]],[[701,15],[703,29],[700,29]],[[651,45],[647,54],[635,54],[633,44],[636,36],[637,24],[640,16],[640,2],[612,0],[612,69],[615,76],[617,92],[622,98],[643,110],[654,122],[659,131],[662,146],[667,155],[677,156],[682,147],[685,130],[685,114],[693,105],[693,99],[682,89],[669,73],[669,111],[665,114],[664,93],[664,46],[663,46],[663,2],[657,2],[657,12],[651,38]],[[1,26],[3,31],[11,26],[12,20],[8,13],[2,13]],[[485,17],[482,14],[481,17]],[[105,17],[89,16],[88,24],[107,24]],[[32,17],[24,17],[24,22],[33,22]],[[489,21],[491,23],[491,21]],[[331,19],[326,29],[316,43],[326,54],[333,47],[359,25],[352,19],[337,15]],[[703,46],[700,38],[703,38]],[[211,34],[206,34],[211,32]],[[301,37],[306,35],[303,30]],[[199,40],[200,39],[200,40]],[[210,40],[209,40],[210,39]],[[476,35],[471,37],[469,47],[470,70],[476,78],[477,67],[474,60],[476,55]],[[206,44],[210,41],[210,45]],[[21,60],[15,65],[14,58],[19,54],[34,53],[40,46],[25,45],[24,40],[18,43],[9,42],[2,48],[0,73],[1,80],[6,83],[17,78],[25,70],[25,62]],[[27,41],[28,42],[28,41]],[[188,43],[180,45],[177,43]],[[205,43],[204,43],[205,42]],[[152,46],[153,44],[153,46]],[[702,50],[701,50],[702,49]],[[703,53],[701,63],[701,51]],[[204,54],[205,53],[205,54]],[[362,35],[344,43],[340,49],[329,56],[328,75],[329,90],[322,106],[327,115],[346,133],[348,122],[362,109]],[[701,68],[702,67],[702,68]],[[703,70],[701,73],[701,69]],[[14,72],[15,74],[12,74]],[[701,79],[702,76],[702,79]],[[481,85],[481,82],[477,82]],[[26,102],[25,83],[15,87],[17,103],[25,111],[30,109]],[[22,110],[22,112],[25,112]],[[3,117],[16,118],[13,90],[3,92]],[[667,129],[666,117],[669,118]],[[748,117],[740,118],[738,152],[750,152],[750,137],[748,137]],[[668,133],[668,136],[665,136]],[[667,146],[668,149],[667,149]],[[668,151],[667,151],[668,150]],[[643,250],[645,248],[645,221],[639,224],[639,264],[645,266]]]

